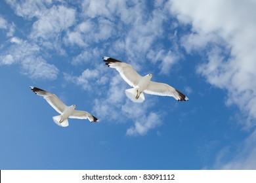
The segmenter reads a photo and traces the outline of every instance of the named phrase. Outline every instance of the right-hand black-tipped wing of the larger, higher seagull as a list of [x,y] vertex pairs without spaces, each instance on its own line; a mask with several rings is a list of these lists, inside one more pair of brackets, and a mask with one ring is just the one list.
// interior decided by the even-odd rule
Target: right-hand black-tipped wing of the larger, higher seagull
[[150,81],[144,92],[152,95],[174,97],[177,99],[177,101],[188,101],[188,97],[186,97],[183,93],[179,92],[168,84],[161,82]]

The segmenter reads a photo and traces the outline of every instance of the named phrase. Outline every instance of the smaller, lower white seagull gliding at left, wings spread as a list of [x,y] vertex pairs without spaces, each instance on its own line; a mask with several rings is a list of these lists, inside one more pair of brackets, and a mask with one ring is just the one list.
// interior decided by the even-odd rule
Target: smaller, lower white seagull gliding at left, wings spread
[[53,107],[60,115],[53,116],[53,121],[62,127],[68,126],[68,118],[88,119],[90,122],[98,122],[92,114],[82,110],[75,110],[76,105],[66,106],[53,93],[46,92],[40,88],[30,86],[30,89],[37,95],[42,96],[51,107]]

